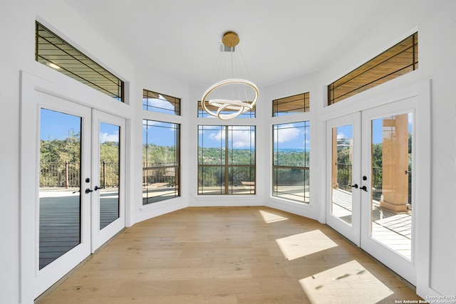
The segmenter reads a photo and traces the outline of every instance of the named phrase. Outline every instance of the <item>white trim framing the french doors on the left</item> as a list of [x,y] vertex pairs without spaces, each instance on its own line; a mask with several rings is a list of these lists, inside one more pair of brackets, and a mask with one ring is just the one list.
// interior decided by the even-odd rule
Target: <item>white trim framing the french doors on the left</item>
[[[36,231],[38,231],[36,217],[38,212],[36,210],[37,201],[39,197],[39,189],[36,186],[38,184],[36,172],[38,172],[39,158],[38,158],[38,132],[40,129],[38,120],[39,105],[36,103],[36,94],[47,94],[52,98],[60,98],[65,102],[71,102],[76,107],[86,108],[90,112],[90,108],[109,109],[110,112],[119,113],[130,113],[131,109],[128,105],[113,102],[108,96],[99,93],[98,91],[93,92],[93,89],[77,83],[75,80],[68,79],[65,75],[55,72],[46,67],[42,67],[41,63],[36,65],[37,71],[43,74],[42,77],[33,75],[25,71],[21,71],[21,100],[20,100],[20,166],[19,166],[19,298],[21,303],[33,303],[33,300],[38,297],[43,291],[49,288],[52,283],[47,281],[46,283],[39,283],[36,278],[40,276],[42,278],[46,273],[51,273],[50,268],[45,267],[42,271],[38,271],[36,244],[38,239],[36,238]],[[52,80],[52,81],[51,81]],[[81,89],[80,91],[75,88]],[[96,100],[93,105],[93,100]],[[99,102],[98,102],[99,101]],[[62,107],[63,112],[66,112],[68,108]],[[89,116],[90,117],[90,116]],[[125,119],[124,119],[125,121]],[[83,122],[86,126],[88,123],[88,129],[90,129],[90,120]],[[127,122],[125,122],[127,124]],[[128,125],[129,127],[129,125]],[[125,129],[125,128],[124,128]],[[125,140],[126,146],[130,144],[130,141]],[[90,155],[90,139],[88,144],[84,145],[83,149],[88,149],[88,155]],[[124,152],[124,155],[125,153]],[[90,157],[88,157],[90,162]],[[128,165],[123,162],[124,176],[128,176],[127,170],[130,169]],[[90,165],[89,165],[90,168]],[[90,174],[90,172],[81,172],[84,175]],[[124,182],[126,189],[128,189],[127,181]],[[81,185],[82,187],[82,185]],[[130,192],[125,191],[125,197],[130,197]],[[124,200],[125,201],[125,200]],[[85,204],[86,202],[84,202]],[[126,204],[126,201],[125,201]],[[33,206],[33,208],[31,208]],[[90,206],[90,202],[88,203]],[[125,207],[123,210],[126,211]],[[88,211],[90,214],[90,209]],[[128,214],[130,216],[130,214]],[[90,221],[90,219],[88,219]],[[128,221],[130,222],[130,221]],[[89,243],[87,256],[90,254],[90,225],[88,225],[88,236],[86,237]],[[77,246],[78,247],[78,246]],[[86,248],[84,249],[86,250]],[[86,254],[86,253],[83,253]],[[64,255],[65,256],[65,255]],[[81,261],[79,261],[81,262]],[[78,262],[78,263],[79,263]],[[72,261],[68,263],[68,268],[74,268],[78,263]],[[47,268],[47,269],[46,269]],[[63,268],[55,269],[57,273],[56,277],[61,278],[68,271]],[[44,271],[46,269],[46,271]],[[47,276],[47,274],[46,274]],[[55,283],[56,280],[54,280]]]

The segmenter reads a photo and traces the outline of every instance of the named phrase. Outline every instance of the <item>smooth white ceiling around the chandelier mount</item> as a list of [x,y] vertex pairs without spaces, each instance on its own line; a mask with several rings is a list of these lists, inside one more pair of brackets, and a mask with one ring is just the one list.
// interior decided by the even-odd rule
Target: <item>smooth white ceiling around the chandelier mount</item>
[[235,31],[249,80],[262,86],[323,67],[400,1],[66,2],[133,65],[189,85],[214,82],[217,43],[225,32]]

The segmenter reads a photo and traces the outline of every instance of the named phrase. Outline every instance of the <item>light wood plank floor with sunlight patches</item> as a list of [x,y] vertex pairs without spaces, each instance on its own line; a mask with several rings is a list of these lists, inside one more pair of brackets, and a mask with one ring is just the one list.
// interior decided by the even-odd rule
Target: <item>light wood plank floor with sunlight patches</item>
[[419,300],[317,221],[267,207],[192,207],[125,229],[41,304]]

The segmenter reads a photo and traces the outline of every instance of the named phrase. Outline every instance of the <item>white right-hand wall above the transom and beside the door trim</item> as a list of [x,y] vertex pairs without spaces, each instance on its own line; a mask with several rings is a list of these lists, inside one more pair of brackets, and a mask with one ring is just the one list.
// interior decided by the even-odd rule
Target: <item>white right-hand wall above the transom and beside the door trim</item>
[[456,180],[455,12],[456,2],[452,0],[397,4],[390,16],[368,29],[365,37],[318,73],[318,85],[327,85],[418,30],[419,68],[407,79],[432,80],[429,293],[440,295],[456,294],[456,204],[452,191]]

